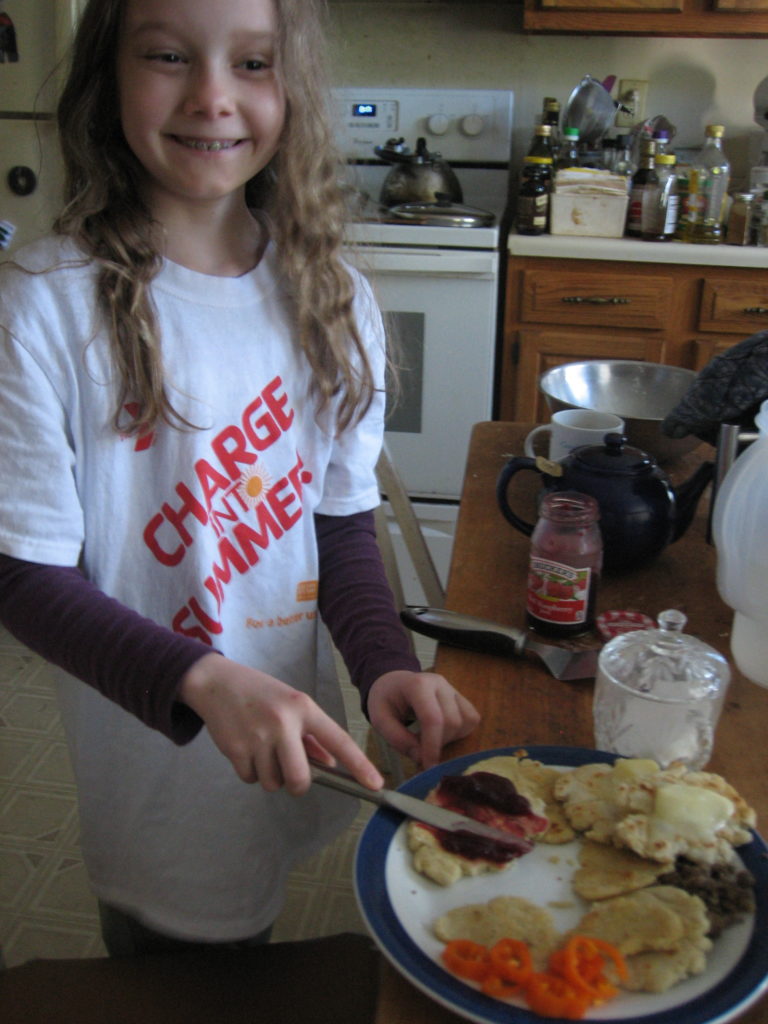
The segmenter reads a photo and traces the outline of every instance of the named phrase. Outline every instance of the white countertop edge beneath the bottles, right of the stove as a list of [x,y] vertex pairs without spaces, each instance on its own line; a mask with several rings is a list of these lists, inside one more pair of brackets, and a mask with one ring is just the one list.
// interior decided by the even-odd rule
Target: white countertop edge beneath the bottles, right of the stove
[[510,233],[511,256],[559,259],[607,259],[628,263],[688,263],[768,269],[768,249],[758,246],[686,245],[682,242],[641,242],[569,234]]

